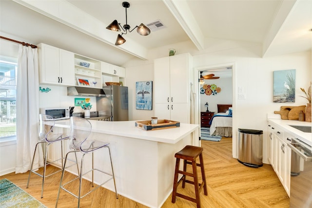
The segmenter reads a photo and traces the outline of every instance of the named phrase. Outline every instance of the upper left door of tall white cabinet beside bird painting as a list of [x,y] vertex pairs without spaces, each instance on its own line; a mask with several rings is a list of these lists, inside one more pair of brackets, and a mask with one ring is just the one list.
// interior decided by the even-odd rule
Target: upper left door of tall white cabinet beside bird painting
[[154,60],[154,98],[155,103],[171,102],[169,57]]

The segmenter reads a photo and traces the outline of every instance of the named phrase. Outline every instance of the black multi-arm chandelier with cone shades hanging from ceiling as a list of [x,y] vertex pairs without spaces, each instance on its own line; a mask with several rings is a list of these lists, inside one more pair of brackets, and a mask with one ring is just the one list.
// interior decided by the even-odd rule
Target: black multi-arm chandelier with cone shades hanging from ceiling
[[130,7],[130,3],[127,2],[127,1],[124,1],[124,2],[122,2],[122,6],[124,8],[126,8],[126,24],[124,24],[123,27],[122,27],[121,24],[118,23],[118,21],[115,19],[111,24],[109,24],[106,27],[106,29],[113,30],[113,31],[121,31],[120,27],[122,28],[123,32],[121,34],[118,34],[115,45],[121,45],[124,42],[126,42],[125,38],[122,38],[122,35],[123,34],[127,34],[128,31],[129,31],[129,33],[131,33],[136,28],[137,28],[137,33],[140,34],[141,36],[148,36],[148,35],[150,35],[150,33],[151,33],[150,28],[145,26],[143,23],[141,23],[139,26],[136,26],[135,28],[130,30],[130,25],[127,22],[127,8]]

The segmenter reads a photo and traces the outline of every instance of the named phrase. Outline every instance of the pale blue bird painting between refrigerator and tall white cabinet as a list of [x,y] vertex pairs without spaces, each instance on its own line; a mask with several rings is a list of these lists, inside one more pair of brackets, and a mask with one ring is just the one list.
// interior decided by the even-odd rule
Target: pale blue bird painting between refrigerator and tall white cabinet
[[153,81],[136,83],[136,109],[152,110],[153,104]]

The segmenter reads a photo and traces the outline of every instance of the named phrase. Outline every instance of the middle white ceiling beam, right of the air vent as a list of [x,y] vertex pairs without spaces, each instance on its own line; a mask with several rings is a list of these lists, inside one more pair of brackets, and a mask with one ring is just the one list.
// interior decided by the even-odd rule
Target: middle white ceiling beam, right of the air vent
[[187,1],[163,0],[169,11],[176,18],[185,33],[189,36],[198,50],[204,49],[204,35],[200,30]]

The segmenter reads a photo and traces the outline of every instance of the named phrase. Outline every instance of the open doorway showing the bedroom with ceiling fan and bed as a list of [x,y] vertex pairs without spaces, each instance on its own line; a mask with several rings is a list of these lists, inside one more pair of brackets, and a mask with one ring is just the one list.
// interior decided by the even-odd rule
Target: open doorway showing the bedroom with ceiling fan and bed
[[[220,141],[232,137],[232,154],[236,158],[234,63],[195,68],[198,77],[198,124],[201,140]],[[195,85],[196,86],[196,85]],[[229,110],[230,109],[230,110]]]

